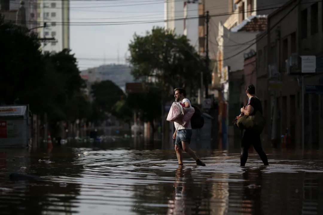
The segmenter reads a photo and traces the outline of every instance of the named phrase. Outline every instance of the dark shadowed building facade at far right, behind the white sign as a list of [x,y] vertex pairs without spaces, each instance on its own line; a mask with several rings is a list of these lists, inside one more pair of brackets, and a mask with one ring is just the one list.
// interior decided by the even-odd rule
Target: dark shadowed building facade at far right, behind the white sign
[[[281,144],[286,135],[286,147],[302,148],[304,125],[304,146],[322,147],[322,95],[303,94],[301,87],[302,76],[305,87],[323,85],[322,7],[322,2],[289,1],[268,16],[267,31],[257,35],[256,91],[267,121],[262,138],[268,145]],[[286,60],[293,55],[316,56],[316,73],[291,75]]]

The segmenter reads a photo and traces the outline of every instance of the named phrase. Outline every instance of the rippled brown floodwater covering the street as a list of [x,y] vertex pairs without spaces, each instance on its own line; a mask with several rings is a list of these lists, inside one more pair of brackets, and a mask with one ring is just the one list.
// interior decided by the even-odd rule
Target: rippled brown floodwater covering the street
[[[75,143],[54,145],[51,154],[0,149],[0,213],[323,214],[319,152],[270,151],[268,167],[251,154],[242,168],[239,153],[199,150],[205,167],[187,154],[179,167],[173,149],[154,145]],[[13,172],[40,178],[13,181]]]

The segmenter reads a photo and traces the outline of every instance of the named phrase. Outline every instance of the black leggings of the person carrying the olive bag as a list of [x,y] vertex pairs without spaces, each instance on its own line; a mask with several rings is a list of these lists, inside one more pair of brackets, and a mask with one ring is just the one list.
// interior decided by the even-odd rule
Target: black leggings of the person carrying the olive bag
[[269,165],[267,155],[261,147],[260,134],[245,130],[245,133],[242,132],[242,135],[240,165],[245,166],[245,163],[248,160],[248,150],[250,145],[254,146],[254,149],[259,154],[264,165]]

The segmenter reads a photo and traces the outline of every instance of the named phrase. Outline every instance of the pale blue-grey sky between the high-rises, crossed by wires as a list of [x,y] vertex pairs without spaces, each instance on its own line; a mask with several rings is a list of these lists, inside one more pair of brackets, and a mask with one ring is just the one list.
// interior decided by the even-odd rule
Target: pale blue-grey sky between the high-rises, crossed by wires
[[164,0],[70,0],[70,49],[78,59],[79,69],[118,63],[118,53],[119,63],[126,63],[134,33],[145,34],[153,26],[164,26],[163,22],[111,22],[154,20],[164,20]]

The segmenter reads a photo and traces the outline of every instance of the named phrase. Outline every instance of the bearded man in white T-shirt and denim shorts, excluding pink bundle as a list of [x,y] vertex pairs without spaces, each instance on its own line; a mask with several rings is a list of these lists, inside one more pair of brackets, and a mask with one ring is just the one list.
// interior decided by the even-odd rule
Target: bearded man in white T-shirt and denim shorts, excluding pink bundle
[[[186,92],[183,88],[176,88],[175,92],[175,101],[184,104],[185,108],[191,107],[191,102],[186,96]],[[183,108],[184,115],[186,111]],[[175,139],[175,151],[177,155],[177,160],[179,165],[183,165],[183,156],[182,152],[185,151],[196,161],[197,165],[205,166],[203,161],[201,161],[194,151],[190,148],[191,136],[192,136],[192,126],[191,122],[188,123],[187,127],[183,127],[177,122],[174,122],[175,132],[173,134],[173,139]]]

